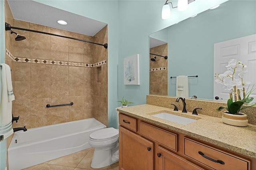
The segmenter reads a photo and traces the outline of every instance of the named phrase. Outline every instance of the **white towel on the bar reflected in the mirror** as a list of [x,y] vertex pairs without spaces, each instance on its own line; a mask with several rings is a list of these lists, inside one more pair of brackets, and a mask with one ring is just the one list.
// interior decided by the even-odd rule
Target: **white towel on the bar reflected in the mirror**
[[176,97],[188,98],[188,76],[179,75],[177,77]]

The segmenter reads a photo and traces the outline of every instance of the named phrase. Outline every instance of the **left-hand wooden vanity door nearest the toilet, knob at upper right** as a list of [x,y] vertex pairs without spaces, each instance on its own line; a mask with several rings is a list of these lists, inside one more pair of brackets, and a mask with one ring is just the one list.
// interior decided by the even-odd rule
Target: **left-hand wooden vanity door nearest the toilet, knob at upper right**
[[119,127],[119,169],[153,170],[153,143]]

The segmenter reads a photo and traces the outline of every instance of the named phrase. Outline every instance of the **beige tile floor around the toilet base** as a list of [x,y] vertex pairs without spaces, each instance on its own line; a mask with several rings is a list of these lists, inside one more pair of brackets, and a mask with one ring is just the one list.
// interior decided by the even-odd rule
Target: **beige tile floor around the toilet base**
[[[94,170],[92,162],[94,148],[63,156],[22,170]],[[118,162],[97,170],[118,170]]]

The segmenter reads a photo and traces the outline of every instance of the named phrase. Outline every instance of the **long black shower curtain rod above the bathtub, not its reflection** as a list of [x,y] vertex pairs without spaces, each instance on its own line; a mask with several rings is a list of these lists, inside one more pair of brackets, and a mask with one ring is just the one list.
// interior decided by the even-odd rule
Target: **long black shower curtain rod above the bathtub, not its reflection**
[[25,29],[25,28],[12,27],[10,24],[5,23],[5,30],[9,31],[11,29],[23,30],[23,31],[29,31],[29,32],[36,32],[36,33],[40,33],[40,34],[47,34],[47,35],[57,36],[57,37],[62,37],[62,38],[69,38],[69,39],[72,39],[72,40],[78,40],[78,41],[82,41],[82,42],[93,43],[93,44],[96,44],[96,45],[102,45],[102,46],[104,46],[104,48],[108,48],[107,43],[100,44],[100,43],[95,43],[95,42],[89,42],[89,41],[86,41],[86,40],[81,40],[81,39],[78,39],[78,38],[72,38],[72,37],[60,36],[60,35],[57,35],[57,34],[51,34],[51,33],[48,33],[48,32],[41,32],[41,31],[29,30],[29,29]]

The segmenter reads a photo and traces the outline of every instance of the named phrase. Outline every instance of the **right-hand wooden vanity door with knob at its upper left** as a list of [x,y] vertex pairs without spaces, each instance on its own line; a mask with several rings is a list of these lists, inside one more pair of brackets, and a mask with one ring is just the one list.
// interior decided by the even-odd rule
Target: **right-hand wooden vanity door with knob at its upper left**
[[158,146],[158,170],[202,170],[188,160]]

